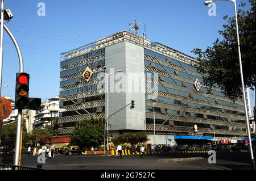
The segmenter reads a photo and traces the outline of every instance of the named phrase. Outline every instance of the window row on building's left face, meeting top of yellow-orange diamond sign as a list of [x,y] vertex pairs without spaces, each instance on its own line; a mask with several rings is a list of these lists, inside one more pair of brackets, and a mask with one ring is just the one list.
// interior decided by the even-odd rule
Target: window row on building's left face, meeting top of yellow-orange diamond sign
[[85,65],[82,65],[82,66],[78,66],[78,67],[73,68],[73,69],[61,71],[60,72],[60,77],[63,77],[65,75],[69,75],[69,74],[73,74],[73,73],[77,73],[79,71],[84,71],[87,67],[89,67],[90,69],[93,69],[93,68],[97,68],[98,66],[101,66],[101,65],[105,65],[105,60],[100,60],[100,61],[92,62],[90,64],[85,64]]

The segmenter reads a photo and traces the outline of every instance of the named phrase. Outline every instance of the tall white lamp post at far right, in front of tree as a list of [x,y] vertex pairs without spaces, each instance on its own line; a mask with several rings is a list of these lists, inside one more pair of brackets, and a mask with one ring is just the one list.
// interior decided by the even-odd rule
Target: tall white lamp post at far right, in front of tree
[[[228,1],[228,0],[218,0],[218,1]],[[212,2],[218,2],[215,1],[205,1],[205,5],[209,5]],[[237,29],[237,45],[238,45],[238,57],[239,57],[239,65],[240,65],[240,75],[241,75],[241,84],[242,84],[242,91],[243,91],[243,103],[245,104],[245,117],[246,117],[246,127],[247,127],[247,133],[249,138],[249,146],[250,146],[250,155],[251,155],[251,169],[255,170],[255,161],[253,156],[253,147],[251,145],[251,134],[250,134],[250,123],[249,123],[249,117],[246,107],[246,97],[245,97],[245,85],[243,83],[243,70],[242,70],[242,58],[241,58],[241,51],[240,51],[240,40],[239,40],[239,31],[238,31],[238,20],[237,20],[237,4],[236,0],[230,0],[230,2],[234,3],[234,11],[236,16],[236,29]]]

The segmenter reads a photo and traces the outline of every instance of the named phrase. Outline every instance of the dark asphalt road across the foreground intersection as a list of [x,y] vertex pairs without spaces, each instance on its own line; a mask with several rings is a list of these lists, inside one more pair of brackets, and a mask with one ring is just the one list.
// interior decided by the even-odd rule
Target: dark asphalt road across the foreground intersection
[[[55,155],[46,159],[43,169],[49,170],[249,170],[249,153],[217,153],[216,163],[208,163],[207,153],[146,154],[116,156]],[[35,167],[37,156],[22,154],[22,166]]]

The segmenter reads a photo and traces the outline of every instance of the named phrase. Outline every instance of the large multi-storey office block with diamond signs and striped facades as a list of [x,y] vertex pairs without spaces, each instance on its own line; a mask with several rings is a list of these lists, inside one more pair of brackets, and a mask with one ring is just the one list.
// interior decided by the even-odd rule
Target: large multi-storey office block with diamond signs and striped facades
[[[247,134],[242,100],[233,103],[217,85],[207,94],[203,75],[192,66],[195,58],[165,45],[122,31],[61,57],[61,134],[71,134],[76,122],[89,116],[107,119],[131,100],[135,108],[110,117],[110,137],[147,131],[149,144],[175,144]],[[82,78],[87,67],[93,73],[88,82]]]

